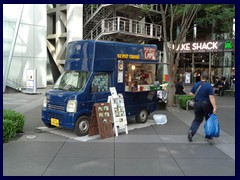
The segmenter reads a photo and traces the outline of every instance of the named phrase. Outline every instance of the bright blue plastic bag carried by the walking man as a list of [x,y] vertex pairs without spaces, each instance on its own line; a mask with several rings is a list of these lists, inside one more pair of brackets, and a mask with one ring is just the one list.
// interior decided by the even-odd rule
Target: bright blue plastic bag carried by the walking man
[[210,137],[220,136],[220,125],[218,122],[218,117],[215,114],[211,114],[204,124],[204,133],[206,136]]

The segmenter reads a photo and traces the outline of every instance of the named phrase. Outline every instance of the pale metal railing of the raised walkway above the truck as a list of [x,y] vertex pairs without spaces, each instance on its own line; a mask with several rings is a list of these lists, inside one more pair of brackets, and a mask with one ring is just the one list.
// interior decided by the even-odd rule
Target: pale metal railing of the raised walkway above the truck
[[84,39],[100,39],[102,35],[116,32],[157,39],[161,37],[161,31],[161,25],[124,17],[113,17],[101,20]]

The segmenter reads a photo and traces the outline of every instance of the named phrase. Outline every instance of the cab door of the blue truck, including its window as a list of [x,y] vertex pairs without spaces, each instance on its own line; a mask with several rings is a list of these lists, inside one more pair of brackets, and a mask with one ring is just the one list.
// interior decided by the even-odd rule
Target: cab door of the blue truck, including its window
[[[110,74],[109,73],[96,73],[91,82],[91,102],[100,103],[107,102],[108,96],[110,95]],[[92,105],[93,105],[92,104]],[[91,106],[92,106],[91,105]]]

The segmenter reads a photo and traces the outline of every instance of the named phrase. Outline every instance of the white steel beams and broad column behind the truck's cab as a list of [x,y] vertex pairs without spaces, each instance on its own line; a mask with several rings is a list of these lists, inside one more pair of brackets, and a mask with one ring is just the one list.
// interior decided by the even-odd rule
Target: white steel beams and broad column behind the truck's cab
[[[83,4],[47,5],[48,66],[53,82],[64,71],[67,43],[83,37]],[[48,84],[51,82],[48,81]]]

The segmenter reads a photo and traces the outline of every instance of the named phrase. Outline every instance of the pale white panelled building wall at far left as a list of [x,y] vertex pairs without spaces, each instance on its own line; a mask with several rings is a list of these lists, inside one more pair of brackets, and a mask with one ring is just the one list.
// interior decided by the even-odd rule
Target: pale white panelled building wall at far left
[[[3,4],[3,74],[14,37],[19,4]],[[26,87],[26,70],[37,69],[37,87],[47,85],[46,4],[24,4],[8,80]]]

